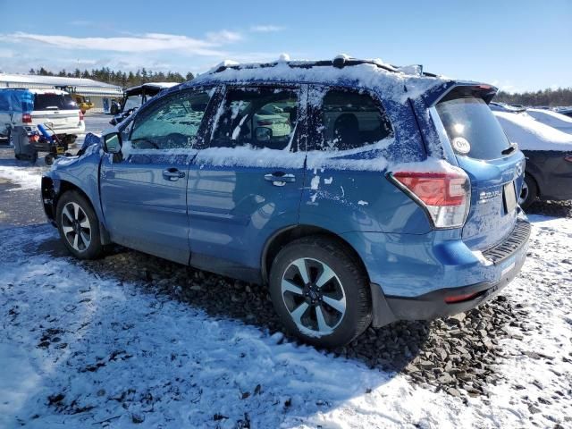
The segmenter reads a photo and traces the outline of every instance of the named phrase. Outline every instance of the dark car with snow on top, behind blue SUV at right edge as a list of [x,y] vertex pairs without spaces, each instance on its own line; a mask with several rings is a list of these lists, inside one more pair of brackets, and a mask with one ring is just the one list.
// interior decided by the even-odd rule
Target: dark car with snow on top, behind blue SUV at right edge
[[572,199],[572,135],[535,120],[529,113],[493,112],[509,140],[526,156],[526,175],[519,204]]

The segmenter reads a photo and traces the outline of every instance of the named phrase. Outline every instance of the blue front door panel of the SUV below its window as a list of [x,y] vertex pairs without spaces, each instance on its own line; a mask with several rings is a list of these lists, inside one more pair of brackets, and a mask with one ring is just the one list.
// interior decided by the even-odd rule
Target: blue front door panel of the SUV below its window
[[[129,248],[189,263],[188,155],[130,155],[102,164],[101,196],[111,239]],[[184,177],[165,178],[177,169]]]

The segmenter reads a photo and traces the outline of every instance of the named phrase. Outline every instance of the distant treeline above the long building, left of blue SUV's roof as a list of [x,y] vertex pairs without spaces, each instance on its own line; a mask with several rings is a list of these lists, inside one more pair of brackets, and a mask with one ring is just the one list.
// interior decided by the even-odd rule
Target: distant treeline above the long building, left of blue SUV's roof
[[93,79],[100,82],[111,83],[113,85],[118,85],[123,88],[134,87],[147,82],[184,82],[185,80],[192,80],[195,76],[189,71],[186,76],[183,76],[179,72],[167,71],[150,71],[146,68],[142,68],[138,71],[114,71],[108,67],[102,67],[101,69],[92,69],[91,71],[80,69],[75,69],[74,71],[47,71],[44,67],[40,67],[38,70],[29,69],[29,74],[36,74],[38,76],[59,76],[67,78],[83,78],[83,79]]

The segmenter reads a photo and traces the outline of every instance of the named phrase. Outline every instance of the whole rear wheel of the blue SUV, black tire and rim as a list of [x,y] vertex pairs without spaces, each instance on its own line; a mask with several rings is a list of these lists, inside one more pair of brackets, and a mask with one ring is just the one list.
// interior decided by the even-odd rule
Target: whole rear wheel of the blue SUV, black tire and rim
[[286,329],[317,347],[348,344],[372,320],[366,273],[348,248],[327,237],[282,248],[270,272],[270,295]]

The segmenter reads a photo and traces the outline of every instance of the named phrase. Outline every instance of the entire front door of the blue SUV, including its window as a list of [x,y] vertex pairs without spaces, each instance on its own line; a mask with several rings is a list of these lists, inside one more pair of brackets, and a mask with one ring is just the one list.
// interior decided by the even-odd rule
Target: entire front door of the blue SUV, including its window
[[101,170],[114,242],[189,263],[189,164],[198,153],[209,100],[206,90],[175,92],[154,99],[124,125],[122,154],[106,156]]

